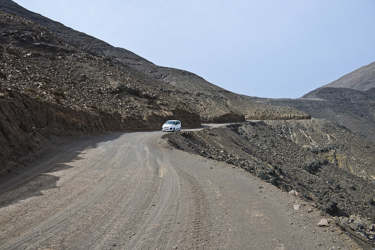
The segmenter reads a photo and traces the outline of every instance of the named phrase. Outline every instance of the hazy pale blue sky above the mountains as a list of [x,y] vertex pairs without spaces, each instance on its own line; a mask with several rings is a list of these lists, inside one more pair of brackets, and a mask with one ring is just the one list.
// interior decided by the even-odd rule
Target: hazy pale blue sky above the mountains
[[15,0],[249,96],[296,98],[375,61],[374,0]]

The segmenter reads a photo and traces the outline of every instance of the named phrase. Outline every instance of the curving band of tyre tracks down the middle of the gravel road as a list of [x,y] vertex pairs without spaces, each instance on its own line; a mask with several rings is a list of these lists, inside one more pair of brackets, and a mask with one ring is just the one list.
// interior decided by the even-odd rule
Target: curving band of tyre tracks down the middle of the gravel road
[[[139,249],[203,249],[202,187],[176,163],[171,164],[165,148],[159,146],[155,151],[161,152],[157,158],[162,180],[159,201],[124,249],[138,249],[137,246]],[[150,228],[156,230],[147,230]],[[154,238],[157,239],[153,241]]]

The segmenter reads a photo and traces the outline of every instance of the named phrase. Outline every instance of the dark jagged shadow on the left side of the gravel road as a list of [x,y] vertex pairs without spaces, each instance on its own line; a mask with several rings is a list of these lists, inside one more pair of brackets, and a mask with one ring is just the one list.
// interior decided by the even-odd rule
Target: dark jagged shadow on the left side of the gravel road
[[123,133],[81,138],[66,142],[57,149],[46,154],[23,168],[18,169],[16,176],[0,179],[0,208],[16,204],[34,196],[43,195],[44,190],[58,188],[60,177],[51,173],[62,171],[74,166],[70,162],[83,159],[83,151],[97,148],[102,142],[120,138]]

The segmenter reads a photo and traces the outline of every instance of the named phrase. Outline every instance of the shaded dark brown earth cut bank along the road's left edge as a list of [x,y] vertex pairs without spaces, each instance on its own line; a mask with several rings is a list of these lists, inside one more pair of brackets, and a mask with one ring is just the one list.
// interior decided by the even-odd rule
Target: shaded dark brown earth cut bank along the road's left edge
[[102,111],[76,111],[40,102],[14,91],[0,98],[0,174],[24,163],[52,136],[77,136],[120,130],[121,118]]

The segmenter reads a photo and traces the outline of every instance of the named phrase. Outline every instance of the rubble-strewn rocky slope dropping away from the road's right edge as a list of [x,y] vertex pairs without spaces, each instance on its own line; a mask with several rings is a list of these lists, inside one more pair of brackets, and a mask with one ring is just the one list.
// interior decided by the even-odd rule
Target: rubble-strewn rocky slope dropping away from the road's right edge
[[[347,154],[345,157],[350,158],[357,151],[345,151],[344,148],[360,149],[361,145],[346,144],[355,143],[355,139],[351,142],[342,141],[340,145],[345,147],[339,147],[335,144],[338,141],[335,140],[330,142],[331,145],[319,145],[323,141],[319,141],[318,137],[324,134],[331,138],[337,136],[337,139],[340,139],[340,133],[346,134],[341,138],[356,138],[356,135],[337,124],[314,123],[315,120],[290,123],[248,122],[197,132],[170,133],[164,138],[180,150],[240,166],[287,192],[293,190],[294,195],[311,202],[325,213],[336,216],[338,223],[344,228],[347,227],[351,233],[374,241],[372,225],[375,222],[375,184],[374,180],[368,177],[374,166],[369,164],[366,174],[356,171],[352,173],[346,166],[340,166],[337,155],[335,162],[335,159],[324,155],[326,150],[317,150],[334,150],[337,146],[336,154],[340,152],[341,157]],[[313,129],[317,131],[312,132]],[[299,136],[296,136],[297,132]],[[311,139],[310,147],[301,143],[302,138]],[[367,143],[372,145],[370,141]],[[350,163],[353,169],[361,168],[362,159],[357,160]]]

